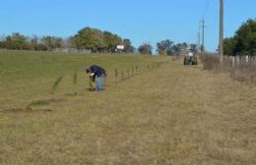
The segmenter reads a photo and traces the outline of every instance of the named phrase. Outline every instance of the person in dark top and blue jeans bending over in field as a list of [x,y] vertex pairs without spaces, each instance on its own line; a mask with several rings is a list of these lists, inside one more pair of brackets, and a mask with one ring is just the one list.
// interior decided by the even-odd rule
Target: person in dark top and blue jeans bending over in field
[[90,86],[94,87],[94,83],[96,83],[96,91],[101,91],[103,79],[106,77],[105,70],[102,67],[92,65],[87,69],[87,74],[90,74]]

